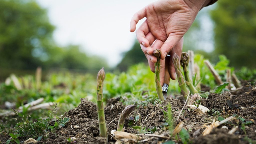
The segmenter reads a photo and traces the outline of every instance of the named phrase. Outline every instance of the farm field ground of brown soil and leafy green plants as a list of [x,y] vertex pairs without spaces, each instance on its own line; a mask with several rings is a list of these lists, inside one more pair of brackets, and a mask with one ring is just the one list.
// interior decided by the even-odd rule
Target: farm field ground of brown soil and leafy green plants
[[[106,72],[107,138],[99,137],[96,73],[52,72],[45,81],[41,81],[40,68],[35,76],[10,75],[0,84],[0,143],[24,143],[33,138],[40,144],[255,144],[256,71],[234,70],[225,56],[219,59],[214,69],[221,80],[227,81],[230,69],[240,87],[229,90],[228,83],[216,84],[204,57],[195,55],[200,77],[194,75],[192,83],[201,98],[197,95],[192,101],[194,107],[184,106],[177,80],[171,81],[167,99],[159,100],[155,75],[145,64],[122,73]],[[127,105],[134,105],[125,117],[127,133],[113,134]],[[201,106],[208,109],[201,111]]]

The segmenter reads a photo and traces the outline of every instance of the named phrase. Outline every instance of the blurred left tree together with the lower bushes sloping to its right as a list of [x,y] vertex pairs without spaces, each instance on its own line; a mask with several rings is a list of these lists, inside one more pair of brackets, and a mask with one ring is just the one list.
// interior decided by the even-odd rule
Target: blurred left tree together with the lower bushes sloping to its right
[[77,45],[56,46],[54,26],[36,1],[0,0],[0,9],[1,69],[108,68],[106,60],[86,55]]

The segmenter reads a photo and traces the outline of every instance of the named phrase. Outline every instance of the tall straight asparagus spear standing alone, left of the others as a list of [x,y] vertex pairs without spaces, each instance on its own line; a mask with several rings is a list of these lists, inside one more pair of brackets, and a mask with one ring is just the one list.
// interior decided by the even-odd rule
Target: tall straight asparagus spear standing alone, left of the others
[[105,71],[104,68],[101,68],[97,75],[97,112],[98,112],[98,120],[99,120],[99,128],[100,128],[100,137],[107,138],[108,141],[108,133],[105,122],[105,114],[104,114],[104,105],[103,105],[103,81],[105,79]]

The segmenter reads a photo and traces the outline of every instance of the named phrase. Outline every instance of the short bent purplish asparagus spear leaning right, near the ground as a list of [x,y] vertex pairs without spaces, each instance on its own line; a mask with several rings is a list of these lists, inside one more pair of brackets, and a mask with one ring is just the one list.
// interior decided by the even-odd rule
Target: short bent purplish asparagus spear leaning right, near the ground
[[124,128],[125,118],[130,115],[130,113],[134,110],[134,108],[135,106],[133,105],[128,105],[124,108],[117,124],[117,131],[122,131],[122,129]]

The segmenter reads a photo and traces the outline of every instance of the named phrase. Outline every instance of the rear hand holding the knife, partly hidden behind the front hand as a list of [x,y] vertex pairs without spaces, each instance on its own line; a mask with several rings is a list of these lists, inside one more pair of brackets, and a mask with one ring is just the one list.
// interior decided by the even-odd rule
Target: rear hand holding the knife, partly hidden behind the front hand
[[[151,47],[153,49],[155,49],[156,47],[159,47],[161,45],[163,45],[164,42],[162,43],[154,43],[151,45]],[[173,65],[173,62],[172,62],[172,56],[173,56],[173,53],[175,52],[177,55],[181,55],[182,53],[182,46],[183,46],[183,37],[180,39],[180,41],[175,45],[175,47],[173,48],[173,50],[171,52],[169,52],[168,54],[171,56],[171,59],[168,63],[165,63],[165,60],[161,60],[160,61],[160,84],[163,85],[164,84],[164,72],[165,72],[165,66],[166,65],[169,65],[169,74],[170,74],[170,77],[175,80],[176,79],[176,72],[175,72],[175,69],[174,69],[174,65]],[[143,46],[142,44],[140,44],[140,47],[141,49],[145,49],[146,47]],[[155,63],[152,62],[152,60],[150,60],[152,57],[154,57],[153,55],[148,55],[148,54],[145,54],[146,58],[148,59],[148,65],[150,67],[150,70],[152,72],[155,72]]]

